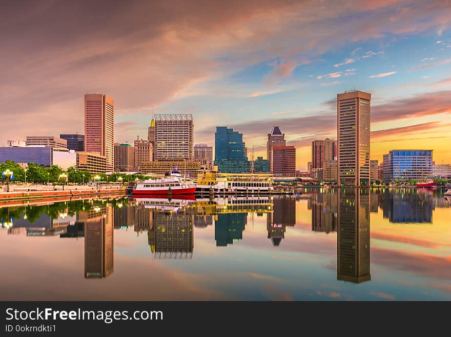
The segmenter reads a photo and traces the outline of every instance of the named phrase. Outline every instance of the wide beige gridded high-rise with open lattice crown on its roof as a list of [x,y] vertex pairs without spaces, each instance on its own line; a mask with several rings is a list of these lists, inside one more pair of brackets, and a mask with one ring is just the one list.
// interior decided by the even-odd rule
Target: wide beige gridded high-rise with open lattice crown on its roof
[[192,114],[156,114],[155,160],[192,160],[194,120]]

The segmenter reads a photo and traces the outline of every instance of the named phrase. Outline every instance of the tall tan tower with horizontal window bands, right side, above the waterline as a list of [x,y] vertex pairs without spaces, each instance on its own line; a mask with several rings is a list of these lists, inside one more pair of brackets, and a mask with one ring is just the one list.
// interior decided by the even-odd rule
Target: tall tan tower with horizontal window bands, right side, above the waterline
[[337,94],[338,185],[370,185],[371,94]]

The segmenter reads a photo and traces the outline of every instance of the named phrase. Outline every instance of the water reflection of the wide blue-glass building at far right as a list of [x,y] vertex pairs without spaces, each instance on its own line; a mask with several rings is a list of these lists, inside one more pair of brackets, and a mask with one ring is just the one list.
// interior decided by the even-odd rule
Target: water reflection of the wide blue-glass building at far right
[[435,208],[432,194],[424,189],[386,189],[381,197],[383,217],[393,223],[432,223]]

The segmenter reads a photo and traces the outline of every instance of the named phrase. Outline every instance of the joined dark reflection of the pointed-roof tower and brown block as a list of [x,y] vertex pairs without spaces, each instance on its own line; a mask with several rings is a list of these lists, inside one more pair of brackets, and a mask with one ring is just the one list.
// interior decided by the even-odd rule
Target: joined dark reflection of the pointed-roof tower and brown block
[[296,224],[296,200],[289,197],[274,197],[272,212],[267,214],[268,239],[279,246],[285,238],[286,226]]

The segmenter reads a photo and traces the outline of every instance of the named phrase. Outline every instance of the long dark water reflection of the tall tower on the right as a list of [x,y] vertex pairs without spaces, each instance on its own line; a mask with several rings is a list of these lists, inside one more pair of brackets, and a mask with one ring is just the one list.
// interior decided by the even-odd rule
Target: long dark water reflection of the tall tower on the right
[[337,280],[371,280],[370,194],[365,189],[338,190]]

